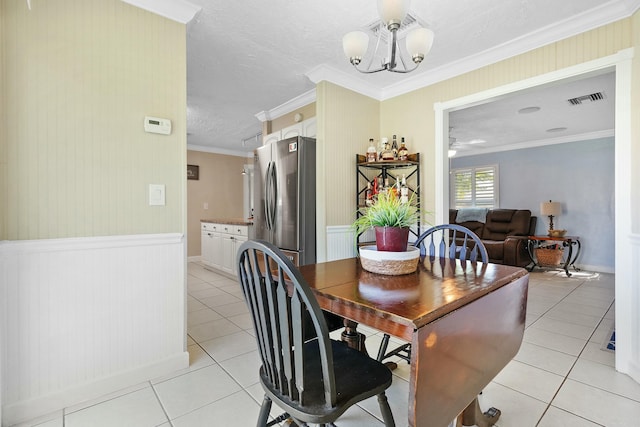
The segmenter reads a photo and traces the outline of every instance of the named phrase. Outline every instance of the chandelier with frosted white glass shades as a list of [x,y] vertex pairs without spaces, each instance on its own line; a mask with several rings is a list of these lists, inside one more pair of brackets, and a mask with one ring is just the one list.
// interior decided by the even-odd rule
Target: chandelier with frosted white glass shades
[[[384,70],[391,71],[393,73],[409,73],[418,68],[425,55],[431,50],[431,45],[433,44],[433,31],[427,28],[418,27],[407,34],[407,52],[409,52],[411,59],[416,64],[414,67],[409,68],[409,66],[405,64],[405,60],[402,58],[400,53],[398,30],[402,25],[402,21],[404,21],[407,16],[410,2],[410,0],[378,0],[378,13],[380,14],[380,19],[382,21],[381,28],[378,31],[376,47],[371,55],[371,60],[369,61],[368,66],[364,69],[359,68],[358,65],[360,65],[362,58],[367,53],[367,48],[369,47],[369,36],[364,31],[352,31],[345,34],[342,38],[342,47],[345,55],[349,58],[349,61],[356,70],[366,74],[377,73]],[[391,34],[391,41],[388,43],[388,48],[391,50],[389,60],[386,61],[387,58],[385,58],[382,61],[382,66],[371,69],[373,59],[380,47],[382,34],[385,31]],[[399,58],[401,65],[398,64],[396,56]]]

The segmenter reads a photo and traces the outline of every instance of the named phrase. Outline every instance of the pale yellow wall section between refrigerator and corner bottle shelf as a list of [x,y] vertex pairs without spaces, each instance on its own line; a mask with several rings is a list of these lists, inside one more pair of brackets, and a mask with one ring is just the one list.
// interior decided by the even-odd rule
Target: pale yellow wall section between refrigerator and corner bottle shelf
[[369,138],[379,139],[380,102],[328,82],[318,84],[316,102],[318,192],[325,195],[318,204],[326,208],[324,226],[351,224],[356,211],[355,155],[366,153]]

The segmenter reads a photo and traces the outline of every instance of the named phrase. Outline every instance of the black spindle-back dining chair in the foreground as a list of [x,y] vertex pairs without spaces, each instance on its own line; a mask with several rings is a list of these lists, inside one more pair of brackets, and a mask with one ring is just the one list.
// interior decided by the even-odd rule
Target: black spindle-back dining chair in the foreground
[[[237,260],[262,361],[259,377],[265,394],[257,426],[287,419],[301,426],[333,426],[350,406],[376,395],[385,426],[395,426],[385,395],[391,371],[329,338],[323,312],[293,263],[259,240],[243,243]],[[313,338],[305,339],[309,336]],[[285,413],[268,423],[272,402]]]

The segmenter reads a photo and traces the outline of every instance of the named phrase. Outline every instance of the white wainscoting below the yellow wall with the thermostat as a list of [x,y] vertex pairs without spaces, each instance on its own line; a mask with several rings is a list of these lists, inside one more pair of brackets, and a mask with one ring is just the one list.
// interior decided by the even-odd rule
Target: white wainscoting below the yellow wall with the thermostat
[[185,368],[182,234],[0,242],[2,425]]

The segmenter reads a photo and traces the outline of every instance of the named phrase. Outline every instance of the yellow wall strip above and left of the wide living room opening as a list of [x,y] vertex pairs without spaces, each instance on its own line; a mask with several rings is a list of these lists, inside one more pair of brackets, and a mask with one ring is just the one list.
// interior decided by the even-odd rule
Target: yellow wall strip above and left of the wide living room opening
[[[393,133],[405,135],[408,137],[410,151],[421,153],[422,204],[424,209],[434,211],[434,103],[449,101],[612,55],[631,46],[631,20],[625,19],[383,101],[380,108],[380,134],[382,136]],[[330,182],[329,185],[332,183]],[[349,223],[350,220],[348,217],[341,219],[342,223]]]

